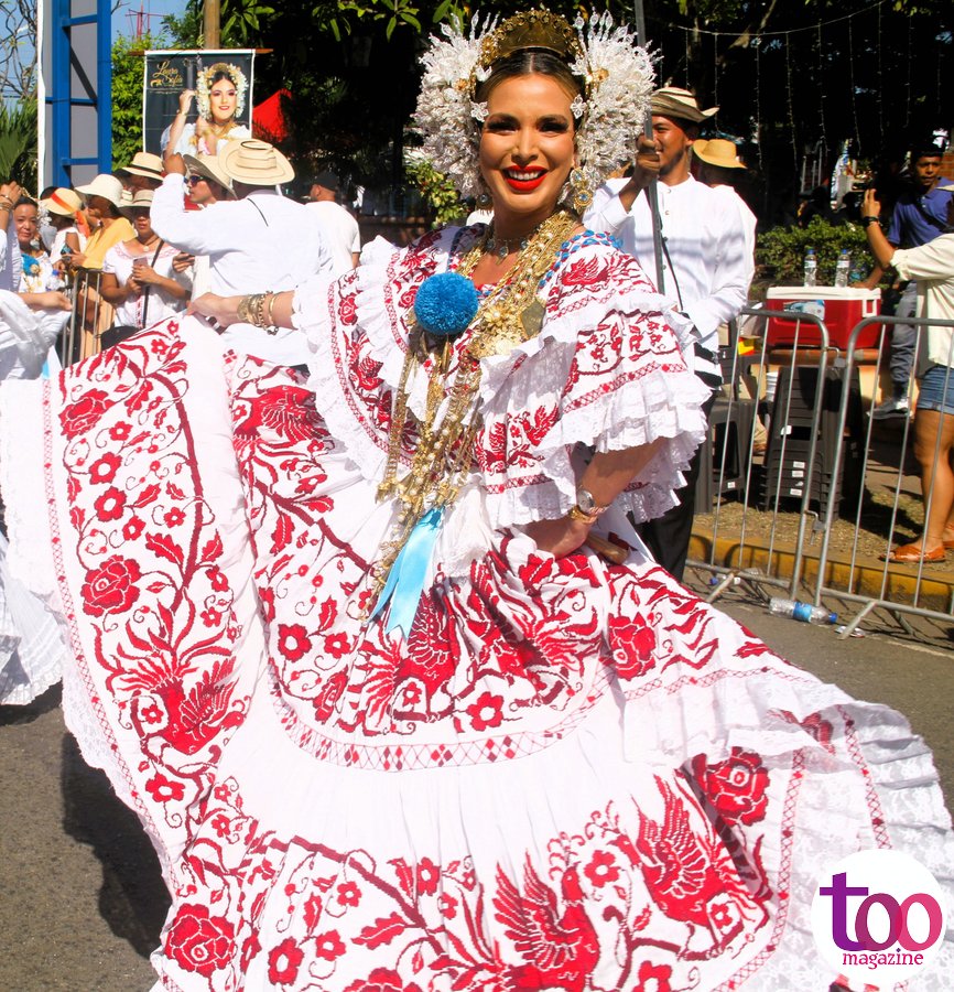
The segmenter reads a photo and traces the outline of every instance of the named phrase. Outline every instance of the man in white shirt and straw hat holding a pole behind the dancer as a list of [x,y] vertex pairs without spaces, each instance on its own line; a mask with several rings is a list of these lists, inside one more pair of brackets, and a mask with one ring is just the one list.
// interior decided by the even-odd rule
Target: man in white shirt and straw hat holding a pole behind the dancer
[[[594,230],[615,235],[655,280],[652,218],[642,193],[653,177],[659,179],[663,289],[692,321],[693,347],[685,357],[713,390],[706,414],[722,384],[719,324],[733,320],[745,305],[754,273],[738,208],[690,173],[700,125],[717,109],[700,109],[685,89],[657,90],[652,97],[653,140],[640,141],[632,177],[610,180],[598,190],[585,218]],[[676,494],[680,505],[639,528],[657,561],[680,580],[692,536],[701,451],[693,457],[685,486]]]

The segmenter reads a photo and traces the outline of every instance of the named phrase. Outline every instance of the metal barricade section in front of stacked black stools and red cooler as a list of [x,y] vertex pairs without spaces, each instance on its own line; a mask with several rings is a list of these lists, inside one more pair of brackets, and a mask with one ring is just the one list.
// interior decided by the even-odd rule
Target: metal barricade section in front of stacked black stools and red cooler
[[[714,507],[700,505],[700,495],[706,495],[705,485],[696,489],[696,516],[706,515],[709,509],[712,513],[711,536],[703,536],[700,526],[694,528],[697,539],[708,539],[708,556],[705,560],[689,561],[691,568],[711,573],[709,584],[713,589],[707,596],[709,602],[722,595],[729,585],[739,582],[787,590],[794,597],[803,579],[806,531],[824,509],[825,489],[816,479],[820,425],[826,399],[827,376],[832,368],[833,349],[828,328],[819,316],[793,310],[768,311],[747,306],[740,311],[740,317],[790,321],[792,333],[791,341],[785,344],[785,348],[790,351],[779,354],[772,349],[774,360],[771,365],[778,367],[779,385],[771,406],[763,399],[770,367],[769,335],[763,331],[758,351],[742,357],[737,346],[738,335],[730,334],[731,360],[729,363],[726,356],[724,365],[728,388],[724,387],[723,397],[717,399],[709,420],[706,452],[713,452],[713,463],[711,465],[704,461],[701,470],[701,475],[712,472],[713,488],[709,494]],[[811,352],[802,346],[807,334],[811,334],[814,342]],[[780,362],[780,358],[783,360]],[[748,369],[742,368],[744,363]],[[758,367],[758,377],[751,375],[752,367]],[[740,393],[747,379],[749,397],[744,398]],[[810,406],[805,405],[803,396],[799,396],[802,379],[814,381],[814,387],[807,389],[812,393]],[[844,391],[847,393],[847,386]],[[795,406],[799,403],[801,409],[796,411]],[[739,410],[742,405],[748,407],[744,414]],[[760,418],[766,416],[770,418],[768,442],[763,452],[757,452],[756,438]],[[793,419],[800,421],[800,436],[795,435]],[[720,439],[719,427],[723,428]],[[735,430],[741,442],[740,451],[737,452],[740,464],[731,466],[729,461],[734,459],[730,429]],[[741,435],[742,431],[747,432],[746,436]],[[799,466],[793,470],[798,478],[789,479],[787,485],[784,466],[793,464]],[[738,471],[740,474],[735,476]],[[731,525],[724,519],[728,497],[734,497],[733,502],[737,507],[740,504],[740,508],[733,515]],[[792,547],[780,551],[777,544],[777,522],[785,500],[798,503],[798,532]],[[759,508],[759,504],[763,509]],[[817,506],[817,511],[813,511],[812,504]],[[758,528],[754,525],[754,515],[759,516]],[[767,538],[750,538],[754,529],[766,531],[766,517],[769,517]]]

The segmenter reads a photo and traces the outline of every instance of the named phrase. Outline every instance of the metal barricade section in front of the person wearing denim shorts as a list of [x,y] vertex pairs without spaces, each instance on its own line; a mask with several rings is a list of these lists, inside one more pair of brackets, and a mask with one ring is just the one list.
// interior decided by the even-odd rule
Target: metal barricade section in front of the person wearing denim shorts
[[[875,316],[866,317],[860,321],[852,331],[848,342],[848,351],[846,356],[846,367],[850,371],[857,363],[857,342],[866,327],[871,324],[893,325],[907,324],[915,327],[918,334],[919,353],[924,346],[923,338],[926,336],[925,328],[931,326],[954,327],[954,321],[926,320],[914,317],[893,317],[893,316]],[[881,366],[881,352],[883,348],[883,339],[878,349],[878,367]],[[950,354],[947,358],[947,368],[945,373],[944,388],[945,395],[948,382],[954,378],[954,338],[952,338]],[[913,376],[909,385],[909,400],[913,399]],[[874,406],[874,401],[872,401]],[[941,452],[942,427],[944,418],[954,418],[954,413],[941,413],[937,423],[935,438],[933,440],[933,470],[931,474],[931,484],[923,496],[923,515],[924,528],[919,531],[915,540],[923,541],[926,531],[928,519],[931,514],[934,499],[936,467],[939,464]],[[837,448],[835,451],[835,464],[841,468],[845,460],[845,427],[848,420],[847,396],[843,397],[843,402],[838,413],[838,435]],[[896,527],[899,524],[900,507],[903,496],[903,479],[906,475],[906,456],[909,453],[912,441],[911,419],[904,416],[901,427],[901,443],[893,446],[897,453],[897,474],[893,481],[890,481],[890,473],[886,473],[883,459],[876,462],[875,444],[872,442],[875,419],[868,418],[867,429],[865,433],[864,457],[860,466],[860,485],[858,488],[858,499],[854,507],[854,540],[850,548],[847,562],[836,562],[831,554],[831,535],[832,525],[836,516],[836,494],[832,493],[827,506],[825,508],[822,549],[819,560],[817,581],[814,590],[814,603],[819,605],[822,596],[833,595],[846,603],[855,604],[858,610],[853,618],[845,625],[839,636],[847,637],[858,626],[861,619],[870,613],[875,607],[883,607],[891,614],[898,623],[908,630],[913,633],[910,624],[906,619],[906,615],[917,615],[921,617],[930,617],[933,619],[947,621],[954,615],[954,583],[947,584],[942,582],[932,582],[930,576],[924,574],[925,562],[920,560],[915,564],[903,565],[890,562],[887,558],[890,556],[892,544],[896,543]],[[917,430],[917,413],[915,413]],[[925,439],[930,442],[930,439]],[[889,446],[891,448],[891,446]],[[923,450],[926,454],[928,449]],[[945,453],[946,456],[946,453]],[[871,478],[875,466],[878,473],[886,476],[886,479],[876,487]],[[923,467],[921,467],[923,477]],[[880,492],[878,492],[880,490]],[[880,496],[880,504],[875,503],[876,497]],[[859,550],[859,539],[863,532],[871,533],[869,528],[865,528],[865,513],[871,513],[872,504],[880,506],[880,517],[887,517],[887,526],[885,527],[885,544],[878,560],[872,560],[870,556],[861,553]],[[912,506],[917,506],[912,502]],[[911,520],[909,519],[909,528]],[[877,535],[876,535],[877,537]],[[913,573],[911,571],[913,569]],[[837,581],[836,581],[837,576]],[[912,581],[913,580],[913,581]],[[943,602],[943,597],[947,596],[947,602]],[[928,605],[933,602],[933,605]]]

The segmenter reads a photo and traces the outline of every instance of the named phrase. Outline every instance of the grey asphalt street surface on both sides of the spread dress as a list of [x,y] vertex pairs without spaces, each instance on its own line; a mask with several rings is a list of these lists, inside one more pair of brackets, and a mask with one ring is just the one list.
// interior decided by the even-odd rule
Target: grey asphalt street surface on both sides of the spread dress
[[[932,644],[874,633],[838,640],[735,595],[723,606],[821,678],[902,710],[954,796],[948,630],[935,628]],[[0,709],[0,989],[150,989],[148,955],[166,906],[159,866],[134,818],[79,757],[56,691],[26,710]]]

